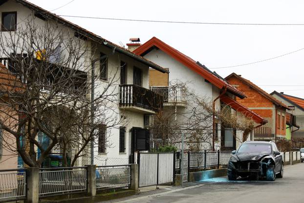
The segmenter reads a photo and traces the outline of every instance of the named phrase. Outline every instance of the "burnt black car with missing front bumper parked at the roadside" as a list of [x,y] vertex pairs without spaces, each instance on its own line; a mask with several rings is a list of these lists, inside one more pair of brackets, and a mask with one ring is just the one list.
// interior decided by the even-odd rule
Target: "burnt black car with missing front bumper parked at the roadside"
[[228,180],[276,180],[283,177],[283,159],[275,142],[245,141],[232,152],[228,162]]

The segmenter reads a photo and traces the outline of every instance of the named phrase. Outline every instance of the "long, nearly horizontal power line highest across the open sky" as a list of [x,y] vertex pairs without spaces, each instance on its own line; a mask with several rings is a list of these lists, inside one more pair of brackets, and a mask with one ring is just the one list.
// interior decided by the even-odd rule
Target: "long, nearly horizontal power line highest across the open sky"
[[218,24],[218,25],[304,25],[304,23],[214,23],[214,22],[187,22],[187,21],[156,21],[156,20],[141,20],[141,19],[124,19],[124,18],[104,18],[104,17],[90,17],[90,16],[69,16],[59,15],[61,17],[71,18],[87,18],[87,19],[102,19],[114,21],[133,21],[133,22],[149,22],[149,23],[183,23],[183,24]]

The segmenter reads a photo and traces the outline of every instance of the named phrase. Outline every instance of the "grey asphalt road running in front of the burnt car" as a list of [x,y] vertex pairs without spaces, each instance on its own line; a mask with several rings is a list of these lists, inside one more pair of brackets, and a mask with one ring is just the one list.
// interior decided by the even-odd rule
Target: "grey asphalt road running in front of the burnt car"
[[275,181],[222,177],[201,183],[120,203],[304,203],[304,163],[285,166],[284,177]]

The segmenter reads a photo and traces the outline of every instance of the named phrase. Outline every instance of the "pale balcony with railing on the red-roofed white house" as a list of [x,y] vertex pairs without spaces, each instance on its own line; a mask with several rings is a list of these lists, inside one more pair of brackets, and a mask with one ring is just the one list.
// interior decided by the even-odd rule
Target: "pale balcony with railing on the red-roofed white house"
[[186,95],[179,87],[172,86],[152,86],[150,90],[159,93],[163,96],[164,106],[181,106],[185,107],[187,104]]

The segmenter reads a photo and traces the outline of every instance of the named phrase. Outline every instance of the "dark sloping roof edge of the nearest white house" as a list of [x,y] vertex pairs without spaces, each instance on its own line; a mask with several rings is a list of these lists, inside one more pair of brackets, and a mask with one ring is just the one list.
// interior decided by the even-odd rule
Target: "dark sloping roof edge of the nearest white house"
[[52,20],[55,20],[56,22],[58,23],[63,23],[65,26],[68,26],[72,29],[74,29],[76,32],[79,32],[80,34],[82,35],[85,35],[87,38],[91,39],[92,41],[95,41],[97,43],[103,43],[103,45],[105,46],[108,46],[110,48],[113,48],[115,51],[118,51],[120,53],[123,53],[123,54],[126,54],[134,59],[136,59],[137,61],[143,63],[143,64],[146,64],[148,65],[149,67],[151,68],[154,68],[156,70],[159,70],[160,72],[169,72],[168,70],[166,70],[165,68],[162,68],[160,66],[158,66],[157,64],[154,64],[153,62],[139,56],[139,55],[136,55],[134,54],[133,52],[129,51],[128,49],[122,47],[122,46],[119,46],[119,45],[116,45],[82,27],[80,27],[79,25],[76,25],[74,23],[71,23],[59,16],[57,16],[56,14],[53,14],[31,2],[28,2],[26,0],[15,0],[16,2],[18,3],[21,3],[23,6],[31,9],[31,10],[34,10],[34,14],[35,16],[37,16],[38,18],[43,18],[43,19],[52,19]]

